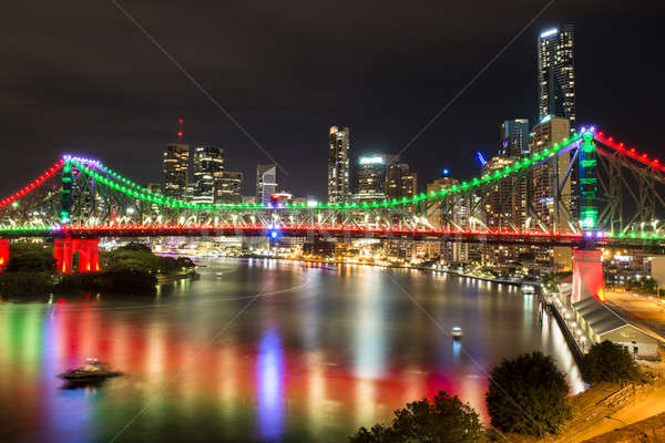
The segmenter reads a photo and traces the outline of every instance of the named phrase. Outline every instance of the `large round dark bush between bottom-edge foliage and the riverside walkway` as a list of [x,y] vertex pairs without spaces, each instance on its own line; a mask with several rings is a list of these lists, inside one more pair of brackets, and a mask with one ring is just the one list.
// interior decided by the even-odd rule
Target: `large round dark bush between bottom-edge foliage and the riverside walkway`
[[532,352],[492,370],[485,401],[494,427],[543,436],[559,432],[571,418],[567,393],[565,375],[552,358]]

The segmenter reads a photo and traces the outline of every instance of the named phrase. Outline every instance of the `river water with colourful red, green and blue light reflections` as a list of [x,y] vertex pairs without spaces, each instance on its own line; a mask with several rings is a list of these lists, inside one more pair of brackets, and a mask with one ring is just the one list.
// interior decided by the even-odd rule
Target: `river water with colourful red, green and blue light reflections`
[[[514,287],[417,270],[203,262],[156,297],[0,303],[0,442],[344,442],[441,389],[488,422],[487,374],[541,350],[583,389],[554,320]],[[464,331],[452,341],[453,326]],[[126,372],[66,389],[95,357]]]

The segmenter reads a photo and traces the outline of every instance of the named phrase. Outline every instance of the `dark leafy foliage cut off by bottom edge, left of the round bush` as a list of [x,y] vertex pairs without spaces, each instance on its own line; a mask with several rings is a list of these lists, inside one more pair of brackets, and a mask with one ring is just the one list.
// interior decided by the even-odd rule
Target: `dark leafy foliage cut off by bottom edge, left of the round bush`
[[478,413],[456,395],[439,391],[434,401],[408,403],[395,411],[391,426],[360,427],[351,443],[452,443],[483,442],[484,429]]

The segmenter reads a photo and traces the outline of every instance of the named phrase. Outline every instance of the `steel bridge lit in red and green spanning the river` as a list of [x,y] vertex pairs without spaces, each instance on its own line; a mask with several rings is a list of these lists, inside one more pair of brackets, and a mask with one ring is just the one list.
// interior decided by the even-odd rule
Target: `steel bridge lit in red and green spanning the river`
[[[665,251],[664,185],[665,163],[593,127],[440,190],[344,204],[195,204],[65,155],[0,200],[0,266],[21,237],[52,238],[63,272],[76,253],[79,271],[99,270],[101,237],[377,238],[569,246],[584,286],[602,277],[598,247]],[[597,296],[597,282],[582,286],[577,293]]]

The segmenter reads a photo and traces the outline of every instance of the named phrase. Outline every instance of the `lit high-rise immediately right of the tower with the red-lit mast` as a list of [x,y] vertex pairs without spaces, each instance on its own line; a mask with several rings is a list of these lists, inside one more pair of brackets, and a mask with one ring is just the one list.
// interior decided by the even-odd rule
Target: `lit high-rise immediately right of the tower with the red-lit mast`
[[218,147],[194,147],[194,187],[192,202],[201,205],[215,203],[215,181],[224,172],[224,151]]

